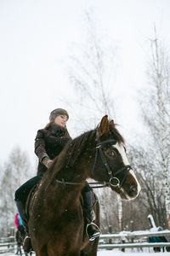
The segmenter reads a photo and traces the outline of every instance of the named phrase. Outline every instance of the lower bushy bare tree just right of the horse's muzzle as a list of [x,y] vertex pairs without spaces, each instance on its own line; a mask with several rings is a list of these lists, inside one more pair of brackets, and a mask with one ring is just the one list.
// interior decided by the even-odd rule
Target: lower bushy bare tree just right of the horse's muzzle
[[[149,226],[147,216],[151,213],[157,226],[167,228],[165,194],[161,183],[161,172],[157,172],[154,162],[154,150],[147,151],[142,147],[129,146],[129,159],[133,162],[133,169],[138,173],[142,187],[139,198],[135,200],[135,206],[128,212],[129,216],[133,216],[134,226],[139,229],[142,224],[144,229],[147,229]],[[125,217],[123,219],[127,221]]]

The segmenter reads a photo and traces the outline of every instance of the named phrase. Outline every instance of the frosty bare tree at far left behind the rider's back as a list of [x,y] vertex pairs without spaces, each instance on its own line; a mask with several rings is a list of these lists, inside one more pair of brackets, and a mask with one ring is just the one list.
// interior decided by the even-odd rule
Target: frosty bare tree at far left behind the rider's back
[[3,167],[1,179],[1,229],[6,229],[14,224],[14,213],[16,207],[14,204],[14,192],[20,185],[31,176],[30,162],[25,152],[20,148],[14,148]]

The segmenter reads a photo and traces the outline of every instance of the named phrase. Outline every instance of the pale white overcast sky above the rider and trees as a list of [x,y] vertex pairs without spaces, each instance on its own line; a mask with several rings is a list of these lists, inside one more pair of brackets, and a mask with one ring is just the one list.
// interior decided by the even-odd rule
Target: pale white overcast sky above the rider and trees
[[69,108],[59,103],[65,95],[73,100],[66,62],[71,45],[82,44],[82,17],[90,8],[121,55],[116,90],[121,125],[129,132],[139,129],[134,98],[145,82],[144,49],[154,24],[169,46],[169,0],[0,0],[1,163],[17,145],[33,159],[37,130],[54,108]]

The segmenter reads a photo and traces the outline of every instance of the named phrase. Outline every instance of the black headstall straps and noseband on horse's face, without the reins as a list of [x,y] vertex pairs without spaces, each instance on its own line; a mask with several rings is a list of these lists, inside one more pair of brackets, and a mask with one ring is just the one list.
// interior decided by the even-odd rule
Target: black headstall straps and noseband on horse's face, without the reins
[[125,171],[125,170],[127,170],[127,172],[129,172],[130,170],[132,170],[132,167],[129,166],[129,165],[123,166],[121,169],[119,169],[115,173],[113,173],[111,171],[110,166],[108,165],[108,162],[107,162],[106,158],[105,158],[105,154],[102,151],[102,144],[105,144],[105,143],[116,143],[116,140],[105,140],[103,142],[99,142],[98,134],[97,134],[96,137],[97,137],[97,144],[96,144],[96,153],[95,153],[95,160],[94,160],[94,166],[93,166],[92,174],[94,175],[94,168],[95,168],[95,165],[96,165],[96,162],[97,162],[97,159],[98,159],[98,153],[99,153],[99,156],[100,156],[100,158],[101,158],[105,168],[107,169],[107,173],[110,176],[109,182],[105,182],[105,185],[109,186],[109,187],[117,187],[117,188],[120,189],[122,187],[122,184],[124,183],[124,181],[127,178],[127,173],[122,178],[122,181],[120,181],[118,179],[118,177],[116,177],[116,175],[121,173],[121,172],[123,172],[123,171]]

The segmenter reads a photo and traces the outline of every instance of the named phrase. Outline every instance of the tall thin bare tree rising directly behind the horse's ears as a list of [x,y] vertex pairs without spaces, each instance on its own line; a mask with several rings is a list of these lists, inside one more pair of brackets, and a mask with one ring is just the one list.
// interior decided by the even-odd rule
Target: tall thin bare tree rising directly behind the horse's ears
[[[88,129],[92,124],[96,125],[105,114],[115,118],[113,99],[118,61],[116,47],[105,44],[105,36],[98,32],[93,15],[87,12],[85,19],[88,39],[78,56],[71,55],[69,77],[77,94],[79,122],[81,121],[82,125],[82,113],[85,113],[83,116],[87,119],[84,119],[84,127]],[[100,206],[104,223],[109,229],[112,221],[110,201],[113,193],[107,190],[107,193],[103,191],[100,196],[105,201],[105,204],[100,201]],[[122,201],[118,197],[115,199],[113,205],[116,204],[114,212],[117,214],[114,214],[114,217],[118,216],[119,230],[122,230]]]

